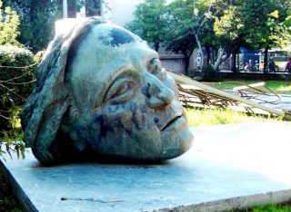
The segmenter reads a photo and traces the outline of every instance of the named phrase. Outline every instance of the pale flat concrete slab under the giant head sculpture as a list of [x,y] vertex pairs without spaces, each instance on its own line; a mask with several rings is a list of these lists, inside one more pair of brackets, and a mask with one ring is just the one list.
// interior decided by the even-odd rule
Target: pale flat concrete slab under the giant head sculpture
[[291,200],[291,125],[193,128],[194,146],[157,165],[45,168],[27,151],[2,167],[31,211],[221,211]]

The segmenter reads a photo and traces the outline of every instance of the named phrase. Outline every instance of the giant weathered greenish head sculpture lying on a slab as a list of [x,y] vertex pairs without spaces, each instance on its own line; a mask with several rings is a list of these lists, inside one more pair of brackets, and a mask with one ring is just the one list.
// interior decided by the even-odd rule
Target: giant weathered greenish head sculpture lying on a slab
[[146,42],[86,19],[50,43],[21,113],[45,165],[72,159],[159,161],[190,148],[176,83]]

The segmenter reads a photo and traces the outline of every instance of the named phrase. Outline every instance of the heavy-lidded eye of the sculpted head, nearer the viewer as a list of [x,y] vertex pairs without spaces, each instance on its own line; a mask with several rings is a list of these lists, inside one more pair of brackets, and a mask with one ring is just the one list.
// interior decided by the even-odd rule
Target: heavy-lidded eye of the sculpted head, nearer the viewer
[[136,79],[132,76],[121,76],[113,82],[105,95],[105,102],[112,104],[130,101],[135,94]]

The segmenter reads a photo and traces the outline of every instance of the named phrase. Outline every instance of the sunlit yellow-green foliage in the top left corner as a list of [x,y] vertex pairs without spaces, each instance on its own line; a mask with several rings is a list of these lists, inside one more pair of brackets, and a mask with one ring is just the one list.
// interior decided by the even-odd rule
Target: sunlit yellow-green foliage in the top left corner
[[16,40],[20,34],[18,32],[19,16],[9,6],[5,7],[4,13],[0,0],[0,45],[17,45],[21,44]]

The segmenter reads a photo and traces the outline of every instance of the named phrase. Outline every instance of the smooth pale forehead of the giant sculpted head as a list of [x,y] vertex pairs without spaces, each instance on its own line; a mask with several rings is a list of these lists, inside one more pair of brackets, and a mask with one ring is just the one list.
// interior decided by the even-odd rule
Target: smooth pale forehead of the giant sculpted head
[[112,24],[93,25],[80,37],[73,55],[67,76],[94,82],[120,69],[139,70],[141,64],[158,57],[137,35]]

